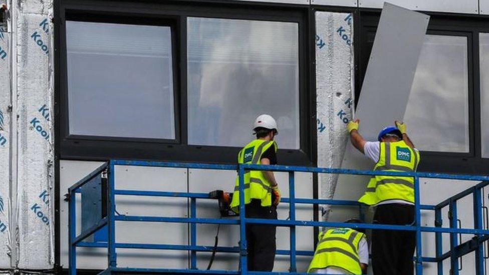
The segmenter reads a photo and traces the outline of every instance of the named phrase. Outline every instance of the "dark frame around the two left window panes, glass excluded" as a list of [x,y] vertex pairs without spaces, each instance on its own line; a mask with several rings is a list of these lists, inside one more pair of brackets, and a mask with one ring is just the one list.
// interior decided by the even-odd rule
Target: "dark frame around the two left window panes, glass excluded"
[[[260,7],[257,9],[257,6]],[[129,11],[129,12],[128,12]],[[108,18],[109,17],[109,18]],[[244,19],[260,21],[294,22],[299,29],[299,116],[300,116],[300,149],[279,149],[278,157],[281,164],[312,165],[315,156],[313,143],[315,133],[312,124],[311,93],[309,88],[310,67],[307,60],[310,57],[308,49],[308,21],[307,10],[275,5],[232,5],[224,3],[185,3],[168,4],[144,2],[137,7],[121,1],[95,1],[95,0],[65,0],[59,9],[60,32],[56,53],[59,62],[57,73],[63,73],[59,79],[60,101],[57,104],[57,113],[61,131],[58,135],[60,145],[60,158],[83,160],[107,160],[110,158],[149,159],[165,161],[193,161],[213,163],[234,163],[240,148],[226,146],[188,145],[187,143],[187,53],[186,53],[186,18],[207,17],[222,19]],[[108,19],[107,19],[108,18]],[[67,75],[66,70],[66,20],[102,21],[133,24],[135,22],[165,22],[172,26],[172,51],[174,62],[174,89],[175,89],[175,140],[121,138],[121,137],[94,137],[68,135],[68,101],[67,101]],[[161,25],[161,24],[151,24]],[[166,26],[166,25],[164,25]],[[175,31],[174,31],[175,30]],[[176,44],[175,44],[176,43]],[[310,92],[312,91],[312,92]],[[314,121],[315,122],[315,121]],[[252,122],[250,122],[252,123]],[[238,126],[239,127],[239,126]],[[247,127],[247,126],[241,126]],[[250,139],[253,136],[250,135]]]

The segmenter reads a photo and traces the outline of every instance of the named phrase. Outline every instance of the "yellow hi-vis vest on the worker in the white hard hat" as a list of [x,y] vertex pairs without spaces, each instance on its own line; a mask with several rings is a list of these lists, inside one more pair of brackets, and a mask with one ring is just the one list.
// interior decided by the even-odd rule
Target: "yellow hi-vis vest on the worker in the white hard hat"
[[[238,163],[260,164],[262,154],[272,146],[277,152],[278,147],[275,141],[256,139],[239,151],[237,161]],[[270,185],[262,171],[244,171],[244,204],[250,203],[251,199],[260,199],[262,206],[271,206],[272,187]],[[234,212],[239,211],[239,175],[236,177],[230,206]]]

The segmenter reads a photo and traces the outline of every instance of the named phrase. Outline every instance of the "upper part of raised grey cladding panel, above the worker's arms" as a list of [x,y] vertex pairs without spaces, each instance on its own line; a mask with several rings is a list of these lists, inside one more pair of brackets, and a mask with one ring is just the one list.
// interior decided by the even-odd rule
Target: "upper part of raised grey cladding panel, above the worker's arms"
[[402,120],[428,21],[384,4],[355,114],[366,139],[376,140],[379,129]]

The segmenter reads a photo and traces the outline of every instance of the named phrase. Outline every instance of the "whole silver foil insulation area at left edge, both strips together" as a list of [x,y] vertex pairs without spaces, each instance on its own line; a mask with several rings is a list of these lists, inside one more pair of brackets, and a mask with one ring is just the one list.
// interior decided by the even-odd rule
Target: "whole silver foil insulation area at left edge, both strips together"
[[54,265],[52,1],[7,1],[0,30],[0,272]]

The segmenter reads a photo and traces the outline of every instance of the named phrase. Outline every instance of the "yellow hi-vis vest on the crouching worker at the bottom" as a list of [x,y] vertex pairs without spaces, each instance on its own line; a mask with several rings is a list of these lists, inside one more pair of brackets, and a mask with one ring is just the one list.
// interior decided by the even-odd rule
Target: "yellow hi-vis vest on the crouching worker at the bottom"
[[339,267],[352,274],[362,274],[358,244],[363,233],[350,228],[328,229],[319,233],[319,242],[308,273],[327,267]]

